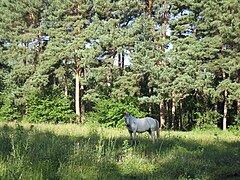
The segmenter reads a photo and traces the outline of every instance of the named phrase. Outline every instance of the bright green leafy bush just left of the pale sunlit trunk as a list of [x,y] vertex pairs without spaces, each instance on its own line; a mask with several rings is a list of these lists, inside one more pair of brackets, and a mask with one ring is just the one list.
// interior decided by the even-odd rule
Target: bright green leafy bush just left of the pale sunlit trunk
[[27,104],[28,122],[70,122],[75,117],[71,101],[65,96],[30,96]]

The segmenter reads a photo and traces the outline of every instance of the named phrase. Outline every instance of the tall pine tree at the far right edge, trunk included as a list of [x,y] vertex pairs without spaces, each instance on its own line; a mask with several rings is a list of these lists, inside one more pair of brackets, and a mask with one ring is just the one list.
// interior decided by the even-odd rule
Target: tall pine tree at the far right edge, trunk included
[[[224,0],[204,3],[205,8],[202,11],[203,18],[200,27],[203,29],[205,39],[218,42],[218,48],[211,49],[211,52],[215,52],[215,58],[209,63],[209,69],[217,80],[215,97],[217,101],[223,103],[222,126],[223,130],[226,130],[227,124],[231,123],[227,120],[229,106],[232,105],[233,99],[238,101],[237,97],[233,99],[230,97],[235,94],[237,91],[235,88],[238,86],[236,86],[236,75],[239,70],[239,42],[237,42],[239,40],[237,35],[239,34],[239,4],[237,1]],[[210,48],[216,47],[212,43],[210,45]]]

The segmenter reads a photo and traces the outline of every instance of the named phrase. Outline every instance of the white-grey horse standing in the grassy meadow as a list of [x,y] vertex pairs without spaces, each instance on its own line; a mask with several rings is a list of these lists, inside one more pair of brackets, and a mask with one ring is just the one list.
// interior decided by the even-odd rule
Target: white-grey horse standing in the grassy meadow
[[153,143],[155,142],[155,131],[157,133],[157,139],[160,136],[159,122],[151,117],[135,118],[129,113],[123,113],[125,125],[130,134],[130,140],[133,143],[132,133],[134,134],[134,143],[136,145],[136,133],[148,132],[152,138]]

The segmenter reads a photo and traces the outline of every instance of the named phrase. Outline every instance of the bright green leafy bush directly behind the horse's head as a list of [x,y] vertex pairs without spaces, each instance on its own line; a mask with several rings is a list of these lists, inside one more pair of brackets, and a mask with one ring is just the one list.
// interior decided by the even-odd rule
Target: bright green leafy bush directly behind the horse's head
[[96,99],[94,111],[90,112],[87,121],[97,121],[106,126],[121,127],[124,125],[123,113],[129,112],[136,117],[145,116],[146,113],[139,110],[137,101],[114,101],[112,99]]

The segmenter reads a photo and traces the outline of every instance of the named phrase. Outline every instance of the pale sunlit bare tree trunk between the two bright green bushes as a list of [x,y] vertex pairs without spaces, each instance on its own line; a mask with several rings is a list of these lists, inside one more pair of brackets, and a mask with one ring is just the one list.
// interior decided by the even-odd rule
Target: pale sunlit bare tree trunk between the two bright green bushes
[[79,65],[76,65],[76,82],[75,82],[75,110],[76,110],[76,122],[80,122],[80,74],[79,74]]

